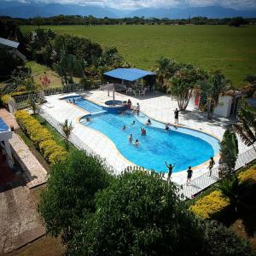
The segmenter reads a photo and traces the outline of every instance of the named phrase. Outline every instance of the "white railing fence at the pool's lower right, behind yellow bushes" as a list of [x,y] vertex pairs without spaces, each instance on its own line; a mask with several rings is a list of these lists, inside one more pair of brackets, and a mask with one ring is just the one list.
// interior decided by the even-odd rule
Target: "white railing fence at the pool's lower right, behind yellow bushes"
[[[248,148],[247,151],[238,155],[236,160],[236,167],[235,171],[240,169],[241,167],[245,166],[247,163],[256,159],[256,150],[251,146]],[[191,179],[190,183],[185,183],[179,186],[179,193],[183,195],[185,198],[191,198],[194,195],[201,192],[203,189],[207,189],[213,183],[216,183],[220,177],[218,176],[218,166],[212,168],[212,173],[210,176],[210,171],[202,174],[199,177],[195,177]]]

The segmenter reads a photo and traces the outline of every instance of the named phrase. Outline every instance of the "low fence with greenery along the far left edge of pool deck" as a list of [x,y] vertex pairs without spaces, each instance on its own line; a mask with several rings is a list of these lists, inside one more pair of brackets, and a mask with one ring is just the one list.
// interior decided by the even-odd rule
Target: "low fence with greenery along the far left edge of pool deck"
[[83,90],[91,90],[99,88],[101,82],[92,82],[88,88],[88,86],[84,87],[81,84],[68,84],[64,85],[59,88],[49,88],[44,89],[35,94],[27,94],[23,96],[9,96],[9,111],[11,113],[15,113],[16,110],[24,109],[30,107],[32,101],[39,102],[40,100],[44,101],[44,96],[49,95],[56,95],[61,93],[68,93],[68,92],[76,92],[76,91],[83,91]]

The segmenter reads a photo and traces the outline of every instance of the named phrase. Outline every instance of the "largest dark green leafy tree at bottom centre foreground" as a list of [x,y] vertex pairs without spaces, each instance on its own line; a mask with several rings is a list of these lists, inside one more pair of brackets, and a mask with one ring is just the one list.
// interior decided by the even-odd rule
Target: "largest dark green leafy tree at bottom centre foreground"
[[76,237],[77,254],[195,255],[203,236],[176,192],[153,172],[121,174],[97,195],[96,213]]

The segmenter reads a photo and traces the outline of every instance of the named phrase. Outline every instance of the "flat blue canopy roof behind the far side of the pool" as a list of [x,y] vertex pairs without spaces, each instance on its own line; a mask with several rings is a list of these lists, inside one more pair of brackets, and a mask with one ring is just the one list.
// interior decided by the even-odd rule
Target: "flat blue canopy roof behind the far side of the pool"
[[115,79],[135,81],[137,79],[142,79],[143,77],[146,77],[148,75],[154,75],[154,73],[138,68],[116,68],[111,71],[105,72],[104,75]]

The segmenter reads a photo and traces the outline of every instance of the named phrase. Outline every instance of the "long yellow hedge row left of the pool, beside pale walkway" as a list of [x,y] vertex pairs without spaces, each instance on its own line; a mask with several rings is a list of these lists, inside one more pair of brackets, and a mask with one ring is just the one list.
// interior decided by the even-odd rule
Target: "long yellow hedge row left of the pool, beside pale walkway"
[[38,120],[34,119],[26,110],[19,110],[15,113],[20,128],[30,137],[35,147],[39,149],[44,159],[49,164],[55,164],[58,160],[64,160],[67,157],[67,151],[53,139],[50,132],[44,128]]

